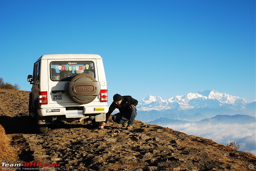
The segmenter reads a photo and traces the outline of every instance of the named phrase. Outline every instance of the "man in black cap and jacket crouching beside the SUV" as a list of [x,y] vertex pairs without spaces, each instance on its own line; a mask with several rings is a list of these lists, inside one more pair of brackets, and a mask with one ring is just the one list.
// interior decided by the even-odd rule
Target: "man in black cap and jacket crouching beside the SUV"
[[113,102],[111,103],[108,113],[106,114],[106,121],[99,123],[101,126],[105,126],[109,115],[117,108],[119,113],[112,116],[112,120],[118,124],[122,124],[122,129],[130,130],[133,127],[133,121],[137,116],[137,106],[138,100],[133,99],[132,96],[121,96],[120,94],[115,94],[113,96]]

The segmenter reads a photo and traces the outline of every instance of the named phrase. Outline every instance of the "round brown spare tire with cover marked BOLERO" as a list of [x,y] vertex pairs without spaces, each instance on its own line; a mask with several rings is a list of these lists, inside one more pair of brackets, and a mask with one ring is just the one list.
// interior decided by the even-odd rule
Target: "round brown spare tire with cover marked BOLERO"
[[77,74],[68,82],[67,93],[76,103],[87,104],[100,94],[100,83],[89,74]]

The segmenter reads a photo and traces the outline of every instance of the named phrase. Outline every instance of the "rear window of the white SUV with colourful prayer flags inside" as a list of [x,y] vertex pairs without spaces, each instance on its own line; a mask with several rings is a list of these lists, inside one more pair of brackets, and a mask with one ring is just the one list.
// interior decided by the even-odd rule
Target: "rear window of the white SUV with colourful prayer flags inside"
[[53,81],[69,81],[80,73],[90,74],[95,78],[94,63],[92,61],[58,61],[51,62],[51,75]]

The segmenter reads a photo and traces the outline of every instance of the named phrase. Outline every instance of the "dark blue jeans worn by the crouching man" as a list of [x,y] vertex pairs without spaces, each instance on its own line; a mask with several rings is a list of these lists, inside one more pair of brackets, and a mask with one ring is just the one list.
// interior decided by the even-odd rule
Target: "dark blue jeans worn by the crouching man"
[[137,109],[132,107],[128,110],[128,112],[119,112],[112,116],[112,120],[119,124],[124,124],[128,121],[128,125],[133,125],[133,121],[137,116]]

